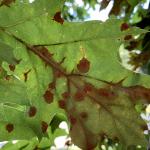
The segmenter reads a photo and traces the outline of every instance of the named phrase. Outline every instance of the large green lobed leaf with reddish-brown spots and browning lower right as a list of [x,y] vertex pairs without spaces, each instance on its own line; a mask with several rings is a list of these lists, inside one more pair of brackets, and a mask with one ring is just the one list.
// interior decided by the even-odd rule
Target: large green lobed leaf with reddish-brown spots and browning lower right
[[124,37],[146,31],[121,31],[114,18],[65,22],[62,6],[61,0],[16,0],[0,7],[0,140],[48,137],[61,113],[83,150],[105,137],[125,147],[146,145],[135,104],[149,103],[150,77],[119,59]]

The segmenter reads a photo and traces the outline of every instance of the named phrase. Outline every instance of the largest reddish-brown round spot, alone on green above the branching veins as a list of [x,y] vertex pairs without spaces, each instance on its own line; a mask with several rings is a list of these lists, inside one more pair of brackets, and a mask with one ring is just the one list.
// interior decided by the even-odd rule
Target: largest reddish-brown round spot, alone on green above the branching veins
[[77,69],[81,73],[87,73],[90,69],[90,61],[83,57],[77,64]]

